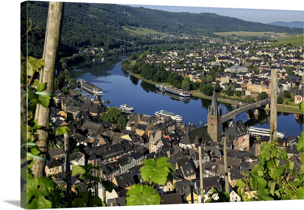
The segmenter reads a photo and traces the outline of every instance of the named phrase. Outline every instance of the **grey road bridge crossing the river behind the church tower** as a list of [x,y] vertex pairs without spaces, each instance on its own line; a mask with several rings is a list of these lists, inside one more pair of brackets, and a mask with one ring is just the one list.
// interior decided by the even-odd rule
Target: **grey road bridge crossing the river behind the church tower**
[[234,119],[238,115],[240,115],[244,112],[247,112],[248,110],[259,108],[259,107],[261,107],[265,104],[268,104],[268,103],[270,103],[270,98],[267,98],[267,99],[264,99],[264,100],[261,100],[261,101],[257,101],[255,103],[250,103],[250,104],[245,105],[243,107],[237,108],[237,109],[235,109],[231,112],[223,114],[222,115],[222,124],[225,123],[226,121]]

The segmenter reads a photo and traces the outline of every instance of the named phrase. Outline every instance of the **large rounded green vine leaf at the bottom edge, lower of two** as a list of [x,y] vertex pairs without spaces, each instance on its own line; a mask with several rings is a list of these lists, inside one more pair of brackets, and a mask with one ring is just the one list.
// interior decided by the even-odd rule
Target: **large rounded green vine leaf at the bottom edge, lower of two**
[[148,185],[133,185],[127,192],[126,205],[158,205],[161,203],[161,197],[158,192]]

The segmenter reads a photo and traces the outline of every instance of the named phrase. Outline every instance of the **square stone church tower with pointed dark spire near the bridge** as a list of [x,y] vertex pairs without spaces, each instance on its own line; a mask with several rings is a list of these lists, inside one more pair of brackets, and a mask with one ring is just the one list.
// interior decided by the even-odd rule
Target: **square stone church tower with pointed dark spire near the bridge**
[[207,123],[207,131],[212,141],[219,142],[222,138],[222,109],[217,102],[215,89],[211,105],[208,107]]

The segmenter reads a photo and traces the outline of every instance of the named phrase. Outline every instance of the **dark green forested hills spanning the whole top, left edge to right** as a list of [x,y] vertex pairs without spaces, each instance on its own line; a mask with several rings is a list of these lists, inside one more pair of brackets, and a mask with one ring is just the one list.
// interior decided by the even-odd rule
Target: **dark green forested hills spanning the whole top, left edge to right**
[[[41,30],[28,33],[28,54],[41,57],[45,36],[48,2],[23,2],[21,21],[26,16],[33,26]],[[119,47],[154,44],[139,35],[131,35],[121,26],[141,26],[164,33],[189,34],[215,37],[213,32],[225,31],[272,31],[300,34],[303,29],[248,22],[214,13],[193,14],[188,12],[165,12],[142,7],[115,4],[72,3],[64,4],[60,56],[71,56],[87,46],[104,47],[107,50]],[[29,23],[29,19],[27,19]],[[21,34],[26,26],[21,26]],[[132,42],[132,44],[131,44]],[[21,40],[22,49],[26,40]]]

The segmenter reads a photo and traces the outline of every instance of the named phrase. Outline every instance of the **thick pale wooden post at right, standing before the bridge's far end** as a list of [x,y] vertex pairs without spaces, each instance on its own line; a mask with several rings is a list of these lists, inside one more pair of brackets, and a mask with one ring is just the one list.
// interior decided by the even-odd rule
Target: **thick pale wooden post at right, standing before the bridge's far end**
[[269,142],[277,138],[277,93],[278,93],[278,70],[271,70],[271,87],[270,87],[270,138]]

